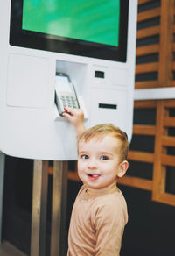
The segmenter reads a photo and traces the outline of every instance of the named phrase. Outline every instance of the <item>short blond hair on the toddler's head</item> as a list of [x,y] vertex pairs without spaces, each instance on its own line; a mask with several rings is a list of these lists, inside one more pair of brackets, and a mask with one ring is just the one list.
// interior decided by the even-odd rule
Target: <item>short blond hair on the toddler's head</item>
[[129,150],[128,136],[126,132],[123,132],[114,124],[97,124],[94,127],[89,128],[87,131],[78,136],[78,145],[81,141],[88,142],[91,139],[101,140],[107,135],[121,141],[120,158],[122,161],[127,160]]

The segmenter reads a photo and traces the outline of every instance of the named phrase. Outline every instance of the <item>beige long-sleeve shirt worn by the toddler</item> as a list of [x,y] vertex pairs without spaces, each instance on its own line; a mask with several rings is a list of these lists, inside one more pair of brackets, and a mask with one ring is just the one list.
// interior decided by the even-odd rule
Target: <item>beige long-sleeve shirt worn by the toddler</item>
[[120,255],[127,205],[116,183],[108,188],[81,187],[73,205],[67,256]]

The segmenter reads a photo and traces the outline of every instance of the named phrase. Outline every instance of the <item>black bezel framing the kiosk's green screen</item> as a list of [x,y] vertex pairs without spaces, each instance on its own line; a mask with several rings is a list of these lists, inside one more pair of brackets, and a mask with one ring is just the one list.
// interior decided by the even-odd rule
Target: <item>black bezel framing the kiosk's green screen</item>
[[120,1],[119,46],[68,39],[22,29],[23,0],[11,0],[10,45],[102,60],[126,62],[129,0]]

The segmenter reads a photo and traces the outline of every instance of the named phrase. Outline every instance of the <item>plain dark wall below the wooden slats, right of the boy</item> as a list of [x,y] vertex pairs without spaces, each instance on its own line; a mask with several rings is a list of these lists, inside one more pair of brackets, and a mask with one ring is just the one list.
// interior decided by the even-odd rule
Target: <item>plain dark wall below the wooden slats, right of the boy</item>
[[128,203],[121,256],[175,254],[175,208],[151,201],[151,192],[120,186]]

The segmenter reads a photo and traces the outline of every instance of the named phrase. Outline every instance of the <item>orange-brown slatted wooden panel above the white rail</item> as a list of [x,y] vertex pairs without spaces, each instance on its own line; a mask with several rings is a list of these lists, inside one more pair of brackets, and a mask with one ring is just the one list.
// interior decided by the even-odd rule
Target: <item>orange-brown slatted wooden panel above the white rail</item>
[[[147,4],[159,2],[159,6],[151,7],[151,10],[139,11],[139,7]],[[151,89],[159,87],[175,86],[173,71],[175,71],[175,61],[173,60],[173,52],[175,46],[173,42],[175,25],[175,4],[174,0],[159,0],[159,1],[138,1],[138,31],[137,40],[144,39],[144,46],[137,46],[137,57],[158,54],[158,62],[151,60],[150,63],[138,63],[137,74],[145,74],[144,81],[139,81],[136,76],[136,89]],[[156,22],[155,22],[156,21]],[[139,25],[144,23],[144,28],[139,28]],[[148,27],[147,27],[148,26]],[[154,41],[155,38],[155,43]],[[150,42],[148,39],[152,38]],[[148,79],[151,73],[157,72],[153,80]]]

